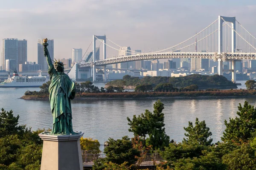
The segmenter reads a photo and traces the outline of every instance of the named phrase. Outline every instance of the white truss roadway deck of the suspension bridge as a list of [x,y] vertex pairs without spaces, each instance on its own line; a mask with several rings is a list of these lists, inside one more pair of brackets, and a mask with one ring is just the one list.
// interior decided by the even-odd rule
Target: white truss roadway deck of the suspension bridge
[[79,64],[79,68],[95,66],[103,66],[108,64],[115,64],[120,62],[146,60],[146,59],[167,59],[167,58],[202,58],[213,59],[217,61],[232,61],[239,59],[256,59],[256,53],[213,53],[213,52],[170,52],[170,53],[156,53],[156,54],[136,54],[130,56],[121,56],[111,59],[103,59],[93,62],[84,62]]

